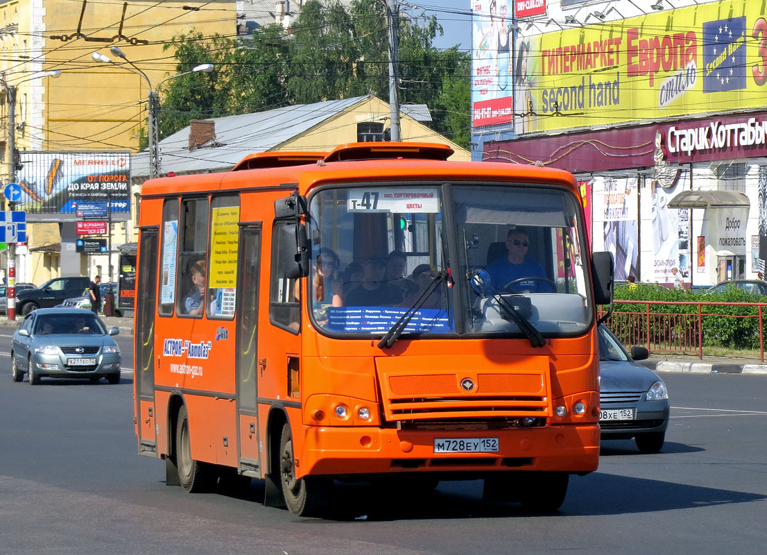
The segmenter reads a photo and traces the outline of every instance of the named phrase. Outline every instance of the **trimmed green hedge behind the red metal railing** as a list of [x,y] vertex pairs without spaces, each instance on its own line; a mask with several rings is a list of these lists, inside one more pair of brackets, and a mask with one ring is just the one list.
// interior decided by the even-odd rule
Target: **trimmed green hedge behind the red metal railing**
[[[750,295],[742,289],[730,287],[721,293],[709,293],[706,291],[692,292],[680,289],[667,289],[663,286],[651,284],[637,284],[636,287],[619,286],[615,289],[616,300],[632,301],[662,301],[669,304],[650,305],[650,312],[654,314],[689,314],[686,318],[656,317],[650,321],[650,346],[654,343],[673,344],[673,339],[683,334],[696,335],[698,327],[697,305],[680,305],[676,302],[767,302],[767,298]],[[627,318],[621,318],[621,312],[644,312],[645,305],[616,303],[614,315],[611,317],[611,328],[621,340],[627,336],[627,330],[622,330],[624,322],[630,322]],[[767,310],[767,306],[762,312]],[[719,346],[727,349],[759,349],[759,318],[735,318],[733,316],[758,316],[759,309],[756,306],[732,306],[732,305],[703,305],[703,345]],[[762,314],[762,319],[764,319]],[[644,322],[644,319],[641,320]],[[642,330],[642,339],[647,342],[647,331]],[[636,342],[636,335],[634,335]]]

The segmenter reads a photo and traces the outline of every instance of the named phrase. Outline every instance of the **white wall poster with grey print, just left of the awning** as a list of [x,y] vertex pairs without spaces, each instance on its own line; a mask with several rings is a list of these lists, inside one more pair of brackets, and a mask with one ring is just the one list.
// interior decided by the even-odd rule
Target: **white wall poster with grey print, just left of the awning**
[[[685,190],[689,173],[673,182],[653,180],[650,185],[653,214],[653,277],[660,283],[673,283],[672,268],[690,281],[690,210],[669,208],[668,203]],[[665,183],[665,186],[664,184]]]

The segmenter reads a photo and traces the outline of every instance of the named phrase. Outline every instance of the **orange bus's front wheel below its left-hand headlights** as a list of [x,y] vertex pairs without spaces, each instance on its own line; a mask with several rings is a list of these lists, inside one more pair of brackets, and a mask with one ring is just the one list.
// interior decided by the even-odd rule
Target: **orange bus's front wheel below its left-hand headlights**
[[288,510],[298,517],[320,514],[328,504],[331,481],[327,478],[295,477],[293,439],[287,422],[282,426],[279,453],[282,497],[285,498]]

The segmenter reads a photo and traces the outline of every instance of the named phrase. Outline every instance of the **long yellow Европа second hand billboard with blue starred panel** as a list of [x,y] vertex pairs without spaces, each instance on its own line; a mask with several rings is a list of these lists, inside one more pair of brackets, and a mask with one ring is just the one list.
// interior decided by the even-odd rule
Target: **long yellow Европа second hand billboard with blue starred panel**
[[515,130],[551,132],[764,107],[765,40],[762,4],[742,0],[518,40],[518,63],[528,71],[518,76],[523,87],[516,91],[515,111],[528,116],[518,118]]

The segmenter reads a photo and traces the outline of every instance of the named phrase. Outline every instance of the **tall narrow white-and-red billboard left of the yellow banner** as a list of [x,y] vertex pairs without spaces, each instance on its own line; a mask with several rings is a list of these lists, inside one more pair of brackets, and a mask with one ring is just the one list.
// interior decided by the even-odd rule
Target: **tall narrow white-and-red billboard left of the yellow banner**
[[510,2],[472,3],[472,126],[510,124],[512,103],[512,22]]

